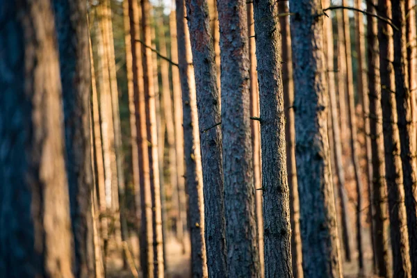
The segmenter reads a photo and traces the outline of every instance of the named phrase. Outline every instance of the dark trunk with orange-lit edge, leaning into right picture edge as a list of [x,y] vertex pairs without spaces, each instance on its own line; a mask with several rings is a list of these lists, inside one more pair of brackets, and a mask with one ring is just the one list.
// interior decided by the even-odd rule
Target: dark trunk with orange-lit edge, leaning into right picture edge
[[[409,248],[413,277],[417,277],[417,188],[416,126],[414,125],[409,84],[409,67],[407,60],[407,19],[405,0],[392,1],[393,24],[398,30],[393,31],[395,99],[397,101],[398,129],[400,131],[402,174],[404,177],[405,207],[407,208],[407,229],[409,231]],[[413,38],[416,40],[416,38]],[[413,61],[414,63],[414,61]],[[414,63],[415,64],[415,63]],[[414,78],[416,76],[413,76]]]

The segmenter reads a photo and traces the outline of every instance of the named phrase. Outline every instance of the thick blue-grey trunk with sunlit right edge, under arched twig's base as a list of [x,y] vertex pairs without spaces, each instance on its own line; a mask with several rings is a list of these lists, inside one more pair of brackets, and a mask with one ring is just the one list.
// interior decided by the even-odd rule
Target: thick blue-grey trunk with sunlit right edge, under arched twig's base
[[341,277],[327,138],[320,0],[290,2],[297,181],[304,277]]

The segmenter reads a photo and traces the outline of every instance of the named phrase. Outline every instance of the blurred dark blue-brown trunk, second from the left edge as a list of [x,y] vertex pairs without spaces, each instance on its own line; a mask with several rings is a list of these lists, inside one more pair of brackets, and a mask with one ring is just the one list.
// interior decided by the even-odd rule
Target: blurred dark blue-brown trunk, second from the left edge
[[90,146],[90,56],[85,1],[54,0],[62,83],[65,165],[74,234],[73,272],[95,275],[92,244]]

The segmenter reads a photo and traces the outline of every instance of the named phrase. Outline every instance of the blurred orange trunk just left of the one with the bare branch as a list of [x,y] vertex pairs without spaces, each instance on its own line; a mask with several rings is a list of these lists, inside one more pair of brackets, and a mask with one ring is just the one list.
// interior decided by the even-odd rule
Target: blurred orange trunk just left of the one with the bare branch
[[138,144],[139,158],[139,185],[140,185],[140,267],[142,277],[149,278],[154,275],[154,250],[152,232],[152,204],[149,177],[149,155],[147,142],[147,129],[145,117],[145,91],[143,90],[143,72],[140,38],[140,10],[138,2],[129,0],[129,19],[131,33],[132,69],[133,69],[133,99],[136,115],[136,142]]

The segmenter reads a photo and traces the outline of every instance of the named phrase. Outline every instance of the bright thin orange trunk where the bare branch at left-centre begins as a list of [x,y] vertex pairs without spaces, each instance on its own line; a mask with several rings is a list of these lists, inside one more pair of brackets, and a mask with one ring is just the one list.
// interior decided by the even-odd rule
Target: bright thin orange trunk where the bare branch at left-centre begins
[[[142,0],[142,42],[151,45],[151,26],[149,17],[151,6],[149,0]],[[151,180],[152,195],[152,229],[154,230],[154,277],[164,276],[163,265],[163,235],[161,215],[161,188],[159,183],[159,162],[158,162],[158,138],[156,130],[156,94],[154,91],[154,65],[152,63],[152,51],[142,47],[143,81],[145,89],[145,105],[147,120],[147,140],[149,144],[149,176]]]

